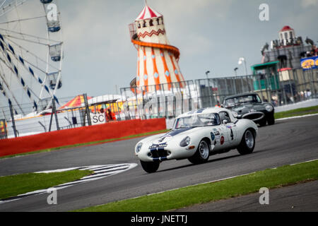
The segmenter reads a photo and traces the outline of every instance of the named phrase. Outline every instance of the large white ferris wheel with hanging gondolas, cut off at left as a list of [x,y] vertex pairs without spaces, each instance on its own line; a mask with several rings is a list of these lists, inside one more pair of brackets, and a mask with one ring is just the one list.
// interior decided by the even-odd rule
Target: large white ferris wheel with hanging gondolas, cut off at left
[[59,104],[62,60],[57,0],[0,0],[0,107],[25,115]]

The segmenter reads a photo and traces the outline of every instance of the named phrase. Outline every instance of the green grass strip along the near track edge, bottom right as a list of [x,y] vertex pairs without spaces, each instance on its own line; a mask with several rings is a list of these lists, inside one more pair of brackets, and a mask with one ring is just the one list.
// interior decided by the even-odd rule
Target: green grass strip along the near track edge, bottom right
[[208,203],[225,198],[237,197],[259,192],[261,187],[269,189],[288,186],[300,182],[318,179],[318,160],[299,165],[266,169],[220,182],[189,186],[182,189],[166,191],[132,198],[103,206],[94,206],[77,210],[78,212],[163,212]]

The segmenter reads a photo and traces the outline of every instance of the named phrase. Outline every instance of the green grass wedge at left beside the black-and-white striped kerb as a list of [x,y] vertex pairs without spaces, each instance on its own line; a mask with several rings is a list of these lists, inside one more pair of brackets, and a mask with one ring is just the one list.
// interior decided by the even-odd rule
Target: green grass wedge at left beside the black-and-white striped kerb
[[0,177],[0,199],[76,181],[92,174],[90,170],[71,170],[49,174],[18,174]]

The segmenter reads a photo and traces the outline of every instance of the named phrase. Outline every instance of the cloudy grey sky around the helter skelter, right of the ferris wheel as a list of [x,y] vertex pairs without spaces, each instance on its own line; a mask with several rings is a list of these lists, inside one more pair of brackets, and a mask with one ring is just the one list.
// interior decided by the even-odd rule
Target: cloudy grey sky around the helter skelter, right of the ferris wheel
[[[269,21],[259,20],[264,3]],[[318,0],[148,0],[148,5],[165,17],[186,80],[205,78],[206,71],[210,77],[233,76],[240,57],[248,68],[260,63],[261,47],[277,39],[284,25],[318,41]],[[115,94],[129,86],[137,54],[128,25],[143,6],[143,0],[59,1],[65,44],[59,97]],[[238,73],[245,73],[244,66]]]

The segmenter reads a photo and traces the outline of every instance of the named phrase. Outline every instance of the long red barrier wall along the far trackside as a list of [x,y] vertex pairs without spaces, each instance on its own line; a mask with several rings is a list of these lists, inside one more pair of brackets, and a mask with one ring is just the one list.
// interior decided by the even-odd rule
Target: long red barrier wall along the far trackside
[[97,126],[53,131],[34,136],[0,140],[0,157],[67,145],[123,138],[166,129],[165,119],[114,121]]

